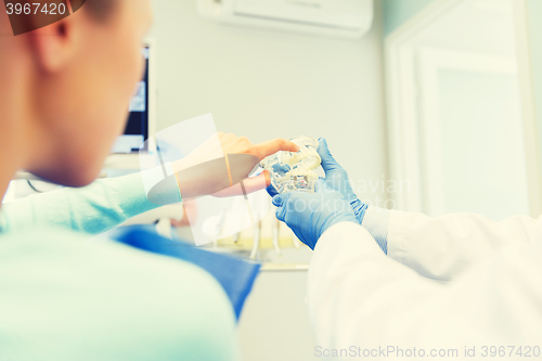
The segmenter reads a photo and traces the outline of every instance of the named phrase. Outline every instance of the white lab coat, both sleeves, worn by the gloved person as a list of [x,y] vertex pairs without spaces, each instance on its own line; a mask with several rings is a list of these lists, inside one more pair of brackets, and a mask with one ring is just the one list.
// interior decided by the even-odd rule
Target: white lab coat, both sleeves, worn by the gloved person
[[361,225],[335,224],[318,242],[309,271],[315,354],[347,349],[352,353],[341,356],[349,359],[354,347],[373,360],[401,359],[380,352],[390,346],[424,349],[425,359],[456,349],[455,360],[487,360],[494,346],[505,348],[502,359],[525,359],[518,347],[530,347],[533,358],[533,348],[542,349],[541,249],[542,217],[493,222],[391,211],[388,256]]

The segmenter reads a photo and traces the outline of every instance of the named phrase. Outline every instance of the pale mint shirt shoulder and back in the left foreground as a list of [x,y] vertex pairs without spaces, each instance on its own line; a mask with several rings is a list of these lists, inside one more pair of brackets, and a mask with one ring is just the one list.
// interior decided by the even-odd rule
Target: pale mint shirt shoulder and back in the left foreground
[[234,358],[228,296],[184,261],[66,231],[8,234],[0,288],[10,294],[0,297],[10,310],[0,332],[17,340],[0,345],[0,356],[47,345],[55,360]]

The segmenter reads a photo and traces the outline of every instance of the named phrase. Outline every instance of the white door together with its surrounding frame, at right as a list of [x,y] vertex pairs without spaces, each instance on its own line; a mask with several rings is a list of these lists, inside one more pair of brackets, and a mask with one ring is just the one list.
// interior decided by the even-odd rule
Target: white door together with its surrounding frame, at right
[[518,3],[436,1],[386,39],[391,171],[410,183],[397,208],[540,215]]

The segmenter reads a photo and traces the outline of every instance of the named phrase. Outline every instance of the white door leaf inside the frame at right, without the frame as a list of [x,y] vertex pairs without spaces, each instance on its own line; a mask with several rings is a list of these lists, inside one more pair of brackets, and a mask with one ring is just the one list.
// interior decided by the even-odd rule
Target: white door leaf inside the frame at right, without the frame
[[422,49],[417,74],[426,212],[528,215],[515,59]]

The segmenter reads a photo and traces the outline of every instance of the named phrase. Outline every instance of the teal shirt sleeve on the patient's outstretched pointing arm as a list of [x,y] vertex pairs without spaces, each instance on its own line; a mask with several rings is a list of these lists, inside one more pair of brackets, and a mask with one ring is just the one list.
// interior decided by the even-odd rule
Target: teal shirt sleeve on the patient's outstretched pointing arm
[[[160,172],[151,169],[147,172]],[[181,202],[175,179],[160,188],[158,204]],[[118,178],[100,179],[80,189],[62,189],[5,203],[0,212],[0,230],[3,233],[61,227],[64,229],[99,234],[124,221],[157,208],[147,199],[141,173]]]

